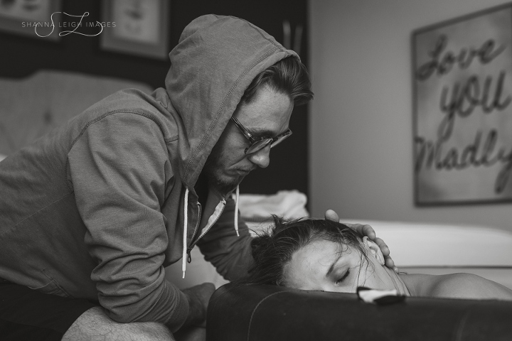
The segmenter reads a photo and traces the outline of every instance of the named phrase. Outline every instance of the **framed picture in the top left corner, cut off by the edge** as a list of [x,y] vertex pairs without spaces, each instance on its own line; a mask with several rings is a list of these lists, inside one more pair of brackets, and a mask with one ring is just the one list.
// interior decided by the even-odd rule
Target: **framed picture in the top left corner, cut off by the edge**
[[1,0],[0,30],[59,40],[60,0]]

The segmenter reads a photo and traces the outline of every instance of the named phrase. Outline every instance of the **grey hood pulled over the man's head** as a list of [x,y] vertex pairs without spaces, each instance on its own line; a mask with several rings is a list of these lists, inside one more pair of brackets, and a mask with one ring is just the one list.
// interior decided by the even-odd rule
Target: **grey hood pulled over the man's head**
[[[245,89],[287,50],[257,26],[232,16],[194,19],[169,53],[166,91],[181,117],[181,179],[192,188]],[[183,135],[184,134],[184,135]]]

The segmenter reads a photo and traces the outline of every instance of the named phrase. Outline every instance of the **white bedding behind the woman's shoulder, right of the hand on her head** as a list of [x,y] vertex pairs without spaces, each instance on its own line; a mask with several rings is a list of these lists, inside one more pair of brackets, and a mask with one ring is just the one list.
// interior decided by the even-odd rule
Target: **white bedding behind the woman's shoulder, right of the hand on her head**
[[466,272],[512,288],[512,232],[488,226],[344,220],[370,224],[411,274]]

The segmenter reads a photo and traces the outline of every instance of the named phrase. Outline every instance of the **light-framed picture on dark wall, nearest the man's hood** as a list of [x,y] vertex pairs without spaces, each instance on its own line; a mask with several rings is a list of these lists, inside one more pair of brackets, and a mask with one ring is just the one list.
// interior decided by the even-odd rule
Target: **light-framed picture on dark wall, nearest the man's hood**
[[104,50],[165,60],[169,37],[169,0],[105,0],[101,34]]

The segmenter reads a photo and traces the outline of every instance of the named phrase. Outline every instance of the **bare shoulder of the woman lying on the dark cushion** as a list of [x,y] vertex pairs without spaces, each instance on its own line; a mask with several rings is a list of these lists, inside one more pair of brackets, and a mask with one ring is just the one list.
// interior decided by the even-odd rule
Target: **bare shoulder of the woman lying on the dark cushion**
[[512,300],[511,289],[474,274],[412,274],[407,277],[413,286],[412,296]]

